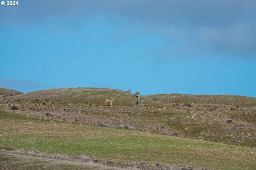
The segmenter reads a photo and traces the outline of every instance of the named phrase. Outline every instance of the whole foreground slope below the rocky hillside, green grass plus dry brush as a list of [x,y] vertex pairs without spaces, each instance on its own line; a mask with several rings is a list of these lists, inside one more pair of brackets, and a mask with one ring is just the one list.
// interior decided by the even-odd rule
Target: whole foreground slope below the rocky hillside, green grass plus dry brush
[[[250,170],[256,149],[0,111],[0,169]],[[7,152],[2,149],[14,149]],[[84,156],[86,155],[86,156]],[[89,157],[88,157],[89,156]],[[121,163],[120,163],[121,162]],[[173,166],[175,165],[175,166]],[[205,167],[202,169],[202,167]]]

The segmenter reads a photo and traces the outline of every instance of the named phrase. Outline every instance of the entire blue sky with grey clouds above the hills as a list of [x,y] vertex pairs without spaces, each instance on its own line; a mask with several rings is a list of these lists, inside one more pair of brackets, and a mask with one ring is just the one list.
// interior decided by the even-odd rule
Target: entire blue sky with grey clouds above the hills
[[0,87],[256,97],[255,0],[0,6]]

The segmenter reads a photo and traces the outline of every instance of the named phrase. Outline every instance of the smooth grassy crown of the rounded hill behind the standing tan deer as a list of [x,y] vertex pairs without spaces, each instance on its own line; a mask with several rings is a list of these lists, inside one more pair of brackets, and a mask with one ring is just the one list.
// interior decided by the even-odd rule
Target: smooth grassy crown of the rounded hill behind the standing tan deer
[[[114,97],[114,103],[118,106],[134,106],[136,98],[132,94],[126,94],[122,90],[106,89],[106,88],[60,88],[51,90],[40,90],[21,96],[26,100],[52,100],[60,103],[93,103],[103,105],[106,98]],[[141,97],[141,100],[146,100],[148,105],[154,105],[151,99]]]

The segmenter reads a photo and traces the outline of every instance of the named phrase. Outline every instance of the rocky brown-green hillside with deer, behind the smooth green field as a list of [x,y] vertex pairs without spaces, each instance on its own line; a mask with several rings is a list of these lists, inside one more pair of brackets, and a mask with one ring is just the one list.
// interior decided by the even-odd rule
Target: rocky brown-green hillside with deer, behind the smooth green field
[[[113,106],[104,106],[112,97]],[[121,90],[62,88],[3,96],[0,107],[29,117],[109,127],[128,124],[140,131],[256,147],[256,98],[245,96],[159,94],[137,99]]]

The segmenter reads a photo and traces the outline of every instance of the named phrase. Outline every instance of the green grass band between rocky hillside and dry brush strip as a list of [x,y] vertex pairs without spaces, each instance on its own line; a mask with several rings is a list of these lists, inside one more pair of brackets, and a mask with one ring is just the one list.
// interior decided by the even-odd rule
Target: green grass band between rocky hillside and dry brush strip
[[[115,162],[156,162],[193,168],[249,170],[256,148],[142,131],[29,118],[0,111],[0,147],[50,154],[87,155]],[[0,157],[0,162],[2,161]]]

